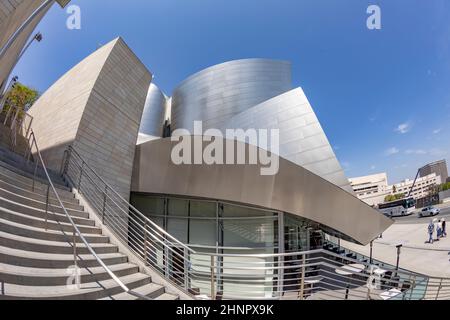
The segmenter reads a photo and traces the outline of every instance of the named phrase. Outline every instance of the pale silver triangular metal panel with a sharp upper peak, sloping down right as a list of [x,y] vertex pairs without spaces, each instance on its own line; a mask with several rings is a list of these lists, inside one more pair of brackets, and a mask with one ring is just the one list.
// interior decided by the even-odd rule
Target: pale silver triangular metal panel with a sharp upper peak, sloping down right
[[[302,88],[267,100],[231,118],[221,128],[279,129],[279,155],[354,194]],[[245,142],[245,141],[243,141]],[[259,147],[263,147],[259,145]],[[269,146],[269,151],[274,152]]]

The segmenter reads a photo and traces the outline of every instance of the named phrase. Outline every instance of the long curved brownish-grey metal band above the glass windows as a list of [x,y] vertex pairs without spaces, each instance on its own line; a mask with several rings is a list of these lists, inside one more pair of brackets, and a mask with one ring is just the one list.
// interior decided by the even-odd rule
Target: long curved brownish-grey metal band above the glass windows
[[[137,147],[132,192],[232,201],[288,212],[363,245],[393,223],[348,192],[286,159],[279,158],[279,172],[273,176],[262,176],[261,165],[175,165],[171,153],[176,143],[166,138]],[[259,150],[248,144],[245,148],[247,152]]]

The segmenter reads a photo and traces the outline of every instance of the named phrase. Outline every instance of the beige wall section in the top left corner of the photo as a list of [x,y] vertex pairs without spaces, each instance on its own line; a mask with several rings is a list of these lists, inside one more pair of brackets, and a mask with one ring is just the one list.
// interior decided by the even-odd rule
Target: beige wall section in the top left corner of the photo
[[[44,2],[44,0],[2,0],[0,1],[0,48],[22,23]],[[49,6],[50,8],[50,6]],[[9,73],[14,68],[16,60],[27,43],[28,38],[47,11],[38,15],[22,32],[6,55],[0,61],[0,88],[7,81]]]

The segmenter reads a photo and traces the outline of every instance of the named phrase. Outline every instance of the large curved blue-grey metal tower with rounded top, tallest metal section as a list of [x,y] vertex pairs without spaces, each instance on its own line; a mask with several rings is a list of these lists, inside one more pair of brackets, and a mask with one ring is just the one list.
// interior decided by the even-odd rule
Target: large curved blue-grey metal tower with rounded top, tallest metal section
[[172,129],[203,121],[205,129],[292,89],[291,63],[268,59],[225,62],[192,75],[172,96]]

